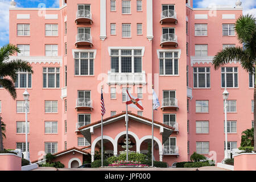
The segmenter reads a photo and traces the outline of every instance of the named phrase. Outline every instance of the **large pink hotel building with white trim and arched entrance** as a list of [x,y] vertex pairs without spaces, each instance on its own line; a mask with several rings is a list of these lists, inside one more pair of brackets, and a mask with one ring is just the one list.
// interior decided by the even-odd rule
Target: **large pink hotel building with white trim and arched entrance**
[[[11,59],[30,62],[34,74],[17,73],[18,98],[0,89],[5,148],[25,150],[22,93],[30,93],[30,160],[43,152],[76,167],[101,145],[100,89],[104,86],[104,147],[119,155],[126,134],[126,88],[144,110],[129,107],[130,150],[146,154],[151,143],[152,84],[154,158],[188,161],[193,152],[224,159],[224,104],[228,89],[228,149],[240,147],[252,127],[254,78],[240,63],[214,70],[222,48],[241,46],[234,23],[241,2],[193,8],[192,0],[60,0],[60,8],[10,6]],[[80,156],[81,155],[81,156]]]

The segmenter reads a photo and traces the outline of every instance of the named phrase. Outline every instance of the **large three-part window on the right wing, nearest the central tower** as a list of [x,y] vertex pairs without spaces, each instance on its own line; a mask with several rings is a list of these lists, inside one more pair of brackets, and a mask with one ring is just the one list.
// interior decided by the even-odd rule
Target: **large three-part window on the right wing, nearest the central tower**
[[210,68],[193,68],[194,88],[210,88]]

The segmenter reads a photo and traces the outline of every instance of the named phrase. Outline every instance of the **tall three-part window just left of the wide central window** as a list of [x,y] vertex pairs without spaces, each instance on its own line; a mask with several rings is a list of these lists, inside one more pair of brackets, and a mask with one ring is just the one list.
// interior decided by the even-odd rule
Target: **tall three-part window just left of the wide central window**
[[94,52],[75,52],[75,75],[94,74]]

